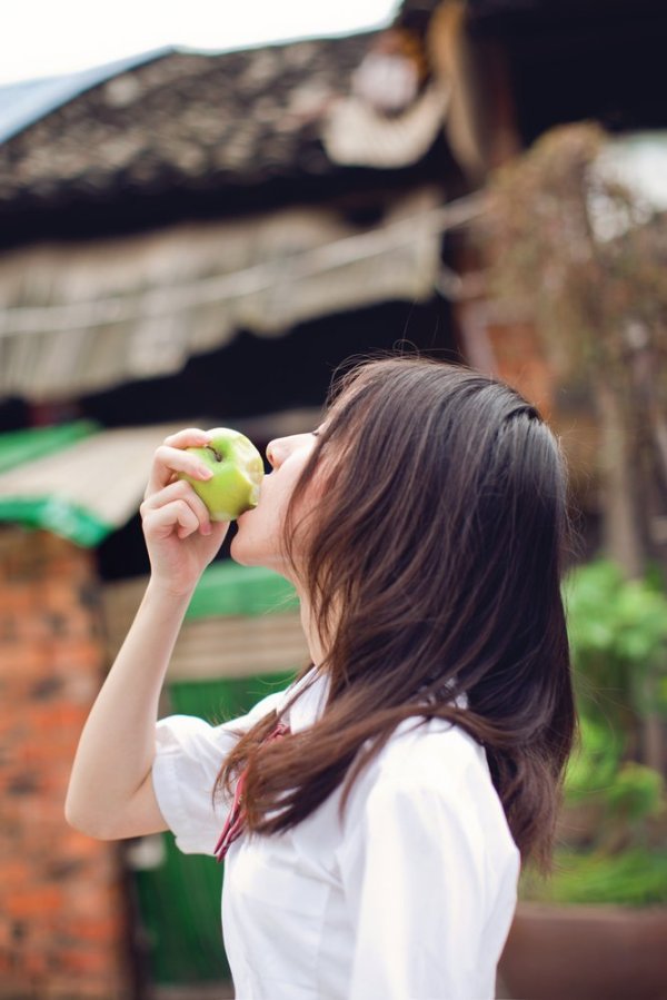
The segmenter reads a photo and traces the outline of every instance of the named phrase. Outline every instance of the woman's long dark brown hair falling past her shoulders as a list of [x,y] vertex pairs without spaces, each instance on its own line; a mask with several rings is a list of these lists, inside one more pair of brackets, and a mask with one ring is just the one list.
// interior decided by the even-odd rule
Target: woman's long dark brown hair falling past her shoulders
[[485,746],[524,859],[548,868],[576,729],[566,511],[558,443],[505,384],[402,357],[341,377],[283,533],[328,650],[301,676],[325,672],[328,701],[267,747],[272,713],[226,760],[216,791],[247,768],[250,830],[295,826],[341,783],[345,806],[399,722],[439,717]]

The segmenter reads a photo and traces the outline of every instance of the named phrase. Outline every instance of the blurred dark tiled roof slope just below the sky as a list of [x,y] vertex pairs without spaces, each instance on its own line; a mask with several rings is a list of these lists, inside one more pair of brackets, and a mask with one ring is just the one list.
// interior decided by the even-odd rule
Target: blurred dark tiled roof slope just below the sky
[[139,62],[0,146],[0,211],[339,171],[319,125],[375,34]]

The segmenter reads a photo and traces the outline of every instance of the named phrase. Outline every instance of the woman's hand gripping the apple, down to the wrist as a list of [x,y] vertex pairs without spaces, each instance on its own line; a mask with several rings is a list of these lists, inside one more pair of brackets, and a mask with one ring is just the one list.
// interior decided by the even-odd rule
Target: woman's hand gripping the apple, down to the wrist
[[193,591],[229,531],[229,522],[211,522],[190,484],[177,477],[177,473],[187,473],[197,479],[210,478],[211,473],[197,455],[186,451],[205,447],[209,440],[206,430],[193,427],[166,437],[156,451],[139,508],[151,583],[173,595]]

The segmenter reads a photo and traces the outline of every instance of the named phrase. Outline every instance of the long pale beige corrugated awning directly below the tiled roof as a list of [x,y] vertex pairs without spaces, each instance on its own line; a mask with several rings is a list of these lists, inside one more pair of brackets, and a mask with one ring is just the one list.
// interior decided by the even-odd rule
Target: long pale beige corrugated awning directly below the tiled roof
[[388,299],[424,300],[440,234],[478,214],[431,188],[360,230],[323,208],[40,245],[0,258],[0,398],[71,398],[179,372],[240,328]]

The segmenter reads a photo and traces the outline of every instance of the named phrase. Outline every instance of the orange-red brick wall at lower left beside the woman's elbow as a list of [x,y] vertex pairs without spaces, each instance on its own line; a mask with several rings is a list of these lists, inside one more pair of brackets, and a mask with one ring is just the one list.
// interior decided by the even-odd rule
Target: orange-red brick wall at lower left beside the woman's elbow
[[132,996],[118,848],[63,819],[103,670],[91,554],[0,529],[0,998]]

